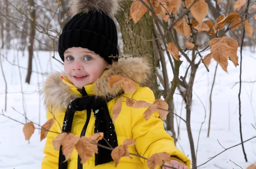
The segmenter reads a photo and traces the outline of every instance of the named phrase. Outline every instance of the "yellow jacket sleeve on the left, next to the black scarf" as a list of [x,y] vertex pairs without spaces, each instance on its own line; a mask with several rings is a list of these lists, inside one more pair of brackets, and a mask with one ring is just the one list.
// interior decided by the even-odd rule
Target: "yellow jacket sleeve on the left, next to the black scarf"
[[[47,120],[53,118],[52,114],[47,111]],[[48,132],[47,133],[47,140],[45,142],[44,146],[44,156],[43,162],[41,164],[41,169],[58,169],[58,156],[59,156],[59,151],[56,151],[53,148],[52,145],[52,140],[55,139],[59,134],[55,133],[58,132],[56,129],[56,121],[54,122],[52,128],[50,131],[53,132]]]

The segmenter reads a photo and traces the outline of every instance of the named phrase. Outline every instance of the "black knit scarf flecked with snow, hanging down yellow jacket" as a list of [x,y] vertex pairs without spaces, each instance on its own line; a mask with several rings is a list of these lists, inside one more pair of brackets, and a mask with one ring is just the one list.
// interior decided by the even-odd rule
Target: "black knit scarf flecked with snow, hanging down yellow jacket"
[[[94,133],[103,132],[104,138],[113,148],[118,146],[116,130],[113,121],[109,115],[107,106],[107,102],[111,101],[112,99],[103,100],[99,98],[96,99],[96,96],[88,96],[84,87],[81,90],[78,89],[78,91],[82,94],[82,97],[74,99],[67,107],[63,121],[62,132],[71,132],[75,112],[86,110],[87,119],[81,132],[81,136],[84,136],[90,120],[91,110],[93,110],[95,118]],[[107,142],[104,139],[100,140],[98,143],[104,146],[108,146]],[[98,152],[99,154],[95,154],[95,166],[113,161],[113,159],[111,158],[111,150],[98,146]],[[58,169],[67,169],[67,162],[63,163],[63,161],[65,161],[65,156],[63,155],[61,146],[59,152]],[[80,161],[81,158],[78,157],[78,168],[82,169]]]

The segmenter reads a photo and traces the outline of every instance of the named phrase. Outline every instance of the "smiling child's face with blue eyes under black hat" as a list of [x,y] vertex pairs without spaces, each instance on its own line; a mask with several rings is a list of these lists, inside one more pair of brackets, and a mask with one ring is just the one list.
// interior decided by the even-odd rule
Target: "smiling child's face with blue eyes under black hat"
[[87,48],[68,48],[64,58],[64,72],[79,89],[93,84],[106,68],[111,67],[101,56]]

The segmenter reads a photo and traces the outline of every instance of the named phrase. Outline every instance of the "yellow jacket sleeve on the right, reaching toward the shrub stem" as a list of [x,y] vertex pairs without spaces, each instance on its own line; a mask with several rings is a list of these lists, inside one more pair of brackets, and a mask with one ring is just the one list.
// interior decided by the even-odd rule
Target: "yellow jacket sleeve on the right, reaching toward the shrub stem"
[[[133,99],[153,103],[154,93],[148,87],[141,87],[134,94]],[[171,157],[176,157],[186,163],[190,168],[189,158],[176,148],[173,138],[164,130],[163,121],[158,118],[159,114],[155,112],[146,121],[143,116],[145,110],[147,108],[131,108],[131,131],[139,155],[150,158],[151,155],[158,152],[167,152]],[[147,163],[143,158],[141,158],[141,161],[144,164]]]

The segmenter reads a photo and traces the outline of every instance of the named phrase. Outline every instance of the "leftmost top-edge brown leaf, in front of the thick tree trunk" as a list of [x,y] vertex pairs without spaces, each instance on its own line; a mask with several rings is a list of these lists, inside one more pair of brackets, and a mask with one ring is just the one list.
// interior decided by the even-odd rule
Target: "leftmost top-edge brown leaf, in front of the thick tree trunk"
[[147,7],[145,7],[140,2],[140,0],[134,0],[131,4],[129,19],[132,18],[134,20],[134,23],[137,23],[147,11],[148,11]]

